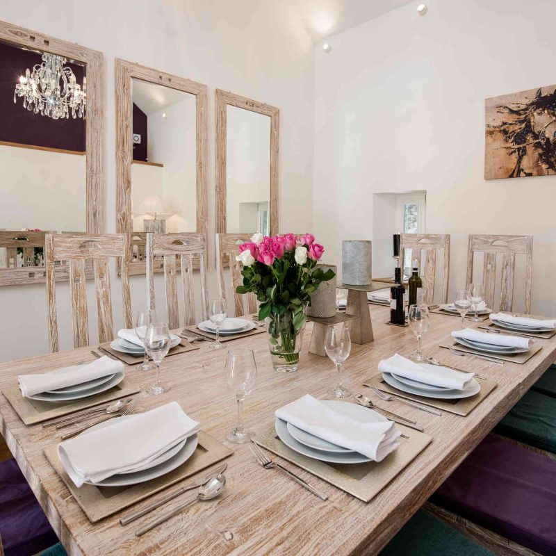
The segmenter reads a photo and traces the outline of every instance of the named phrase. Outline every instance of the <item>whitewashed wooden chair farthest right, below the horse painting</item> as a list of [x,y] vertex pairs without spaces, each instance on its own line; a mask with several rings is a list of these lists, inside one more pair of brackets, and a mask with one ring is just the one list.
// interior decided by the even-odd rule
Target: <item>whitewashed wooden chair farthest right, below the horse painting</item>
[[533,236],[486,236],[471,234],[467,252],[466,287],[473,283],[475,253],[483,253],[482,286],[484,302],[494,309],[496,289],[496,256],[502,255],[502,284],[498,311],[512,311],[514,304],[514,275],[516,255],[525,255],[525,313],[531,311],[531,281],[533,266]]

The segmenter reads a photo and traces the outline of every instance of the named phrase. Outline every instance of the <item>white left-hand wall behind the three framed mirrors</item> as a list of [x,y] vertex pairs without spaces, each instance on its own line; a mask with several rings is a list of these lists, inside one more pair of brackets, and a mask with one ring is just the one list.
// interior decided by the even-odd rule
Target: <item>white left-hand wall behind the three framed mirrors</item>
[[[97,0],[2,2],[0,19],[104,53],[105,229],[115,231],[114,58],[138,61],[208,85],[208,245],[214,265],[214,91],[222,88],[280,108],[280,231],[311,229],[313,44],[301,19],[275,0]],[[122,324],[113,277],[115,327]],[[161,292],[162,283],[157,281]],[[211,270],[211,293],[216,293]],[[71,347],[69,301],[58,298],[60,347]],[[145,279],[131,280],[133,311],[145,306]],[[0,359],[48,351],[44,285],[0,288]],[[158,306],[161,303],[158,302]],[[95,313],[94,302],[90,314]],[[96,324],[90,319],[91,336]],[[29,341],[33,338],[33,341]]]

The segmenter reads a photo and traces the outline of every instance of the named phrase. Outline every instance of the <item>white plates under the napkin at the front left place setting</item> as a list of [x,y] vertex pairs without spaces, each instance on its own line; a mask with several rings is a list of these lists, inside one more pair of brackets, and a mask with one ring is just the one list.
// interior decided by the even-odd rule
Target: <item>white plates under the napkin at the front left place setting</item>
[[[104,423],[99,423],[94,427],[90,427],[90,429],[81,434],[90,434],[90,432],[94,430],[110,427],[120,419],[130,419],[132,417],[132,415],[117,417],[115,419],[105,421]],[[156,479],[156,477],[161,477],[161,475],[174,471],[175,468],[181,466],[181,464],[187,461],[193,455],[193,452],[195,452],[195,448],[197,448],[197,441],[197,434],[193,434],[193,436],[189,436],[189,438],[181,441],[179,444],[172,446],[172,448],[159,455],[149,464],[133,469],[133,471],[117,473],[116,475],[108,477],[108,479],[105,479],[104,481],[95,483],[87,482],[87,484],[95,484],[95,486],[129,486],[131,484],[138,484],[140,482]]]

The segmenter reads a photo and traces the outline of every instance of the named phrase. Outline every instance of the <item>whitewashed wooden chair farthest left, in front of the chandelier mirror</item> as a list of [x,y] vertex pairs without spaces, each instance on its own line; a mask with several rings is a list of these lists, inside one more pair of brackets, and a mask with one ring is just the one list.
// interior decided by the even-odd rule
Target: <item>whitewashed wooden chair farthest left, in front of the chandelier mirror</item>
[[129,253],[129,241],[126,234],[47,234],[44,259],[47,265],[47,301],[51,352],[58,351],[56,261],[67,261],[70,265],[74,347],[83,347],[89,343],[85,263],[88,260],[92,261],[97,297],[99,342],[104,343],[114,339],[110,269],[108,267],[108,258],[111,257],[122,260],[124,323],[126,328],[131,328],[131,298],[127,266]]

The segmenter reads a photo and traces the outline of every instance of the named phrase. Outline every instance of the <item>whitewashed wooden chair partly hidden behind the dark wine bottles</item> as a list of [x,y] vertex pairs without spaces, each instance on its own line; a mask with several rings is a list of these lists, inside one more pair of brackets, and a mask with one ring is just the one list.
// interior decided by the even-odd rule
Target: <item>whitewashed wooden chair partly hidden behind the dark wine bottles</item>
[[[434,299],[434,283],[436,280],[436,254],[443,254],[442,268],[442,303],[448,303],[448,280],[450,275],[450,234],[401,234],[400,260],[403,261],[405,251],[411,250],[411,261],[417,259],[419,274],[424,278],[423,286],[427,288],[425,303]],[[424,264],[422,261],[424,259]]]

